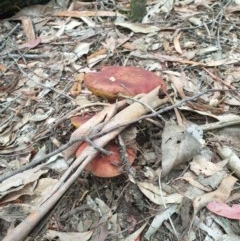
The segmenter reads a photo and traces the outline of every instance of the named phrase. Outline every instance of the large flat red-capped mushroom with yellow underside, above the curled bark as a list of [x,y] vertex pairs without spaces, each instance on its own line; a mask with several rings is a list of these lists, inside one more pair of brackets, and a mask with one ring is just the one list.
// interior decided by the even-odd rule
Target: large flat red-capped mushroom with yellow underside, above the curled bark
[[166,83],[154,73],[137,67],[106,66],[101,72],[87,73],[84,83],[95,95],[116,99],[119,95],[135,96],[160,86],[166,91]]

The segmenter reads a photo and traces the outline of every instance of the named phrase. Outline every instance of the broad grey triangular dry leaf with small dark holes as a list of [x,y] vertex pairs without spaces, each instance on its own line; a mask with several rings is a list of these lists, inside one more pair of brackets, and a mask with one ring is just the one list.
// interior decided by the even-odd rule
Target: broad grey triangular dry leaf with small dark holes
[[166,123],[162,134],[162,176],[190,161],[200,150],[201,144],[183,127]]

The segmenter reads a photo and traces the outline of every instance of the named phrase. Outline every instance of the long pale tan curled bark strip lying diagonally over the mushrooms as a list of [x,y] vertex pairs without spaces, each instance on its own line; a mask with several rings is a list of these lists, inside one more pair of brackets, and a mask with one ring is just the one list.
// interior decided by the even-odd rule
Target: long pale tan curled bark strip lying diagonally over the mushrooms
[[[149,105],[152,108],[156,108],[168,101],[167,98],[163,100],[159,99],[158,93],[159,88],[156,88],[148,94],[144,95],[140,100],[141,102],[146,103],[146,105]],[[133,121],[148,111],[149,109],[146,109],[139,102],[134,102],[130,106],[117,113],[111,120],[109,120],[109,122],[107,122],[100,133],[105,133],[105,130],[109,128],[113,128],[113,130],[94,140],[94,144],[99,147],[104,147],[110,140],[116,137],[123,129],[127,127],[126,123]],[[104,116],[106,116],[106,114]],[[119,124],[121,127],[114,129],[115,126]],[[16,228],[14,228],[12,232],[3,239],[3,241],[25,240],[25,238],[37,225],[37,223],[50,212],[50,210],[54,207],[54,205],[56,205],[64,193],[77,180],[84,167],[97,155],[97,153],[98,151],[93,146],[88,146],[58,181],[54,188],[53,194],[47,198],[46,201],[43,202],[37,210],[32,212],[25,220],[23,220]]]

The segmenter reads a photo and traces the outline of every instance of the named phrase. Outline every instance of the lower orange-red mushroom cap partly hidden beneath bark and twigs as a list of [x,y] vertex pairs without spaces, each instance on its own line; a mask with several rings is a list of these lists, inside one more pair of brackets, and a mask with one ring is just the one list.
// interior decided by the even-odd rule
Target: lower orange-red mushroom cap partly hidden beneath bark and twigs
[[[86,142],[82,143],[76,151],[76,156],[79,156],[87,145],[88,144]],[[85,167],[85,170],[91,172],[97,177],[115,177],[121,175],[123,171],[123,163],[120,160],[121,155],[118,146],[114,142],[110,142],[107,144],[105,149],[110,151],[112,154],[105,155],[103,153],[99,153]],[[129,162],[132,164],[136,157],[136,151],[130,147],[127,147],[127,156]]]

